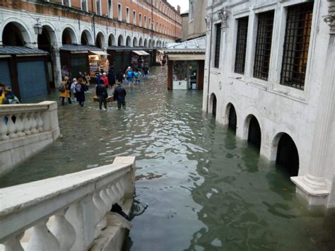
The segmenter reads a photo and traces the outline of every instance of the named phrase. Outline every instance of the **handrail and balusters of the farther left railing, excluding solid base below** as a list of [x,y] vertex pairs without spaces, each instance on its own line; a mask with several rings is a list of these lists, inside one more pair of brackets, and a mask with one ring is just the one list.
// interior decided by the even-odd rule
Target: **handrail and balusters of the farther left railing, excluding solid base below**
[[0,105],[0,142],[55,128],[58,128],[58,119],[57,103],[54,101]]

